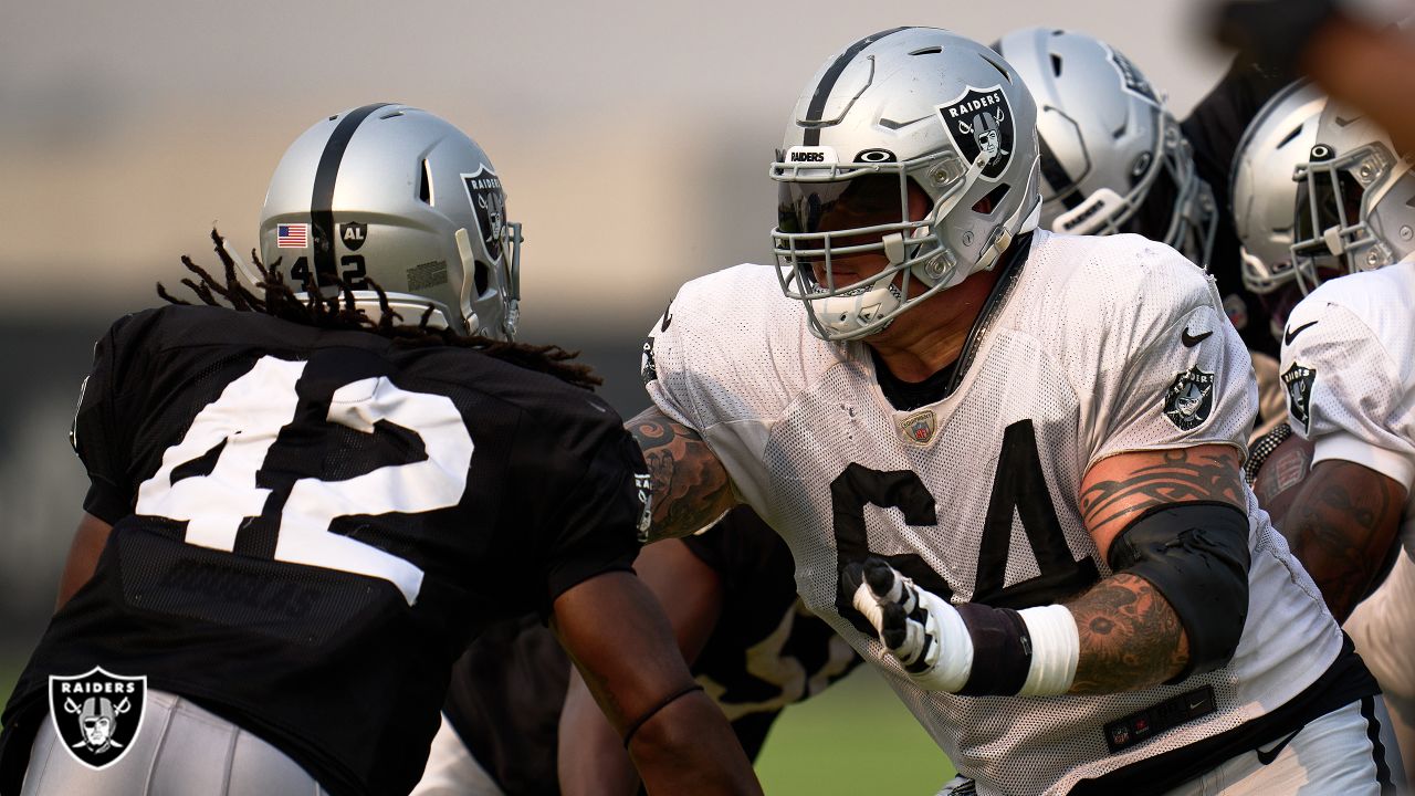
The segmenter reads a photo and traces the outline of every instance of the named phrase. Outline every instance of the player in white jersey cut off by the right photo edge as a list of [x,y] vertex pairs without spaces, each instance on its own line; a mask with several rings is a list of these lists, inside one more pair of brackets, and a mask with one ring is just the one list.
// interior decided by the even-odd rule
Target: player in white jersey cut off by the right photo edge
[[1411,164],[1360,112],[1322,112],[1296,167],[1290,265],[1276,272],[1309,293],[1282,346],[1288,423],[1306,445],[1283,443],[1257,472],[1283,511],[1283,535],[1385,691],[1407,773],[1415,765]]

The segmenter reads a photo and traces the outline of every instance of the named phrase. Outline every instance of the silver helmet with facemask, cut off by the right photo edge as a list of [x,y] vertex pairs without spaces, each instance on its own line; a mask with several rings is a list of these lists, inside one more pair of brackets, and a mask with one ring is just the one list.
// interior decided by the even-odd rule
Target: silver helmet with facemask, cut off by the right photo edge
[[1292,271],[1306,292],[1415,251],[1415,157],[1358,110],[1327,102],[1298,164]]

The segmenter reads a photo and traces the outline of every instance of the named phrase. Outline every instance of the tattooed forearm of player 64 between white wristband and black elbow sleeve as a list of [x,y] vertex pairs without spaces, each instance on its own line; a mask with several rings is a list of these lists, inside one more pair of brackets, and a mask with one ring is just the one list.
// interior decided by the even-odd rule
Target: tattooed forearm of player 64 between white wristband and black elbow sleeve
[[1169,680],[1189,663],[1179,616],[1145,578],[1112,575],[1067,608],[1081,636],[1073,694],[1143,688]]

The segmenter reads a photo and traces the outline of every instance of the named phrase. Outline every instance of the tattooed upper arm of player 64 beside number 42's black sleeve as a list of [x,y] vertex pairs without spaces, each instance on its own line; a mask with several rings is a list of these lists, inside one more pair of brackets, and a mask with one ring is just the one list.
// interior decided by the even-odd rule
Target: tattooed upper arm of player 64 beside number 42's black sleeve
[[712,525],[733,506],[727,470],[703,438],[649,406],[624,423],[654,476],[654,525],[648,541],[695,534]]

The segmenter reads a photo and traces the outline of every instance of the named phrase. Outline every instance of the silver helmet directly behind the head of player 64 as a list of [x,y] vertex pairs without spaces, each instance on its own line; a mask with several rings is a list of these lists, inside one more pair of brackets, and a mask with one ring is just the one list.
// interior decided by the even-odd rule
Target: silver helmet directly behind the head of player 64
[[1098,38],[1043,27],[1009,33],[996,47],[1037,101],[1041,225],[1139,232],[1207,268],[1218,228],[1213,190],[1135,64]]

